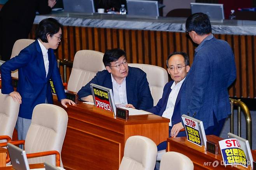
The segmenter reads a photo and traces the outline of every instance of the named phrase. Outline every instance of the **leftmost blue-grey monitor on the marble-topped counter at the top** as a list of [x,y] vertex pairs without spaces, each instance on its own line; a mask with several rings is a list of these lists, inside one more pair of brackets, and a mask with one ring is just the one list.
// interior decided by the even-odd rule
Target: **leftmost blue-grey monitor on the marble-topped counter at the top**
[[63,0],[63,7],[66,12],[95,12],[93,0]]

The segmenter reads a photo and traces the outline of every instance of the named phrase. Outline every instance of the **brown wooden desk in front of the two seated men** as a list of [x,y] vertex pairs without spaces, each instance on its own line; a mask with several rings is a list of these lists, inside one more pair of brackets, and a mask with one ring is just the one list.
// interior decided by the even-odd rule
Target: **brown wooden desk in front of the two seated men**
[[[56,99],[54,104],[61,106]],[[169,119],[154,114],[130,116],[126,121],[82,102],[76,106],[68,105],[65,110],[68,127],[61,159],[67,170],[117,170],[128,137],[142,135],[156,144],[168,138]]]

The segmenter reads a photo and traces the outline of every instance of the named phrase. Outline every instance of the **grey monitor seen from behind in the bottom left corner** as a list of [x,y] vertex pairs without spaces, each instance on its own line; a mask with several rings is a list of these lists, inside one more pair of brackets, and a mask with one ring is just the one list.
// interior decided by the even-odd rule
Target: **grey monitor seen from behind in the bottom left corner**
[[15,170],[29,170],[26,152],[19,147],[8,143],[7,149],[11,158],[12,168]]

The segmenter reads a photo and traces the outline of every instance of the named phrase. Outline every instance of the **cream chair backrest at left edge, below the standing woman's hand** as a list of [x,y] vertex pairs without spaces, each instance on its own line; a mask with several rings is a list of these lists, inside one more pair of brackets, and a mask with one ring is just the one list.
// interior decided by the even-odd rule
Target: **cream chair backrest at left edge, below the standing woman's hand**
[[[18,113],[19,102],[14,102],[11,96],[2,94],[0,89],[0,135],[8,135],[12,138]],[[5,141],[0,140],[1,142]]]

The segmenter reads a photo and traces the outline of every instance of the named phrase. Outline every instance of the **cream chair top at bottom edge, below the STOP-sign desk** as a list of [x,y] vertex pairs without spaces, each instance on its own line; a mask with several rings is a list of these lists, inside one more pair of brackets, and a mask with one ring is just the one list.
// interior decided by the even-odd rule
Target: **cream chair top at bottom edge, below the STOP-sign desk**
[[167,152],[163,154],[160,162],[160,170],[193,170],[193,162],[188,156],[178,152]]

